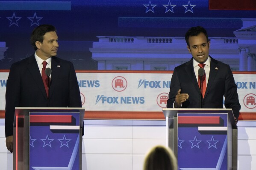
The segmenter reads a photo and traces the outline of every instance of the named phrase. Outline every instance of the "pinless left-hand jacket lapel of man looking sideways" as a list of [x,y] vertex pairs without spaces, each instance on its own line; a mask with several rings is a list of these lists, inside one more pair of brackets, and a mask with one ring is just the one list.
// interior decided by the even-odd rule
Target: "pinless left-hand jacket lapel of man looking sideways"
[[[37,84],[38,88],[42,92],[42,95],[47,99],[47,94],[45,92],[44,83],[41,77],[41,72],[38,69],[37,62],[35,60],[35,56],[32,55],[29,57],[28,63],[27,63],[27,69],[29,70],[30,74],[32,75],[32,78],[35,81],[35,84]],[[29,83],[29,82],[28,82]]]

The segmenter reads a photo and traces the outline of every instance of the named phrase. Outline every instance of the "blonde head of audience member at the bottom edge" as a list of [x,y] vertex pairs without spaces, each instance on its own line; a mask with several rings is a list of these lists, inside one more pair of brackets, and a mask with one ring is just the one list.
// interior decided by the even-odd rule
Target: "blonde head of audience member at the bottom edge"
[[143,170],[177,170],[177,159],[170,148],[158,145],[147,153]]

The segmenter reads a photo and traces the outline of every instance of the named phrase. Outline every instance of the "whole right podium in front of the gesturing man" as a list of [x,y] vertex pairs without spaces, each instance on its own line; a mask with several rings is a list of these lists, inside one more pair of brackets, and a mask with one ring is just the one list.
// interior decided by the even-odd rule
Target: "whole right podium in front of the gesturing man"
[[232,109],[163,109],[166,139],[180,170],[237,170]]

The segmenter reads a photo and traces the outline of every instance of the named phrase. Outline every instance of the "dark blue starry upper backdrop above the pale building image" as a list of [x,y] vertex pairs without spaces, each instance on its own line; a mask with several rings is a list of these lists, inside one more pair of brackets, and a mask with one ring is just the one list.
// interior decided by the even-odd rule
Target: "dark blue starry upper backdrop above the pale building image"
[[243,18],[256,19],[255,0],[1,0],[0,69],[34,53],[29,37],[41,24],[56,26],[60,58],[97,70],[97,36],[184,37],[200,25],[209,37],[235,37]]

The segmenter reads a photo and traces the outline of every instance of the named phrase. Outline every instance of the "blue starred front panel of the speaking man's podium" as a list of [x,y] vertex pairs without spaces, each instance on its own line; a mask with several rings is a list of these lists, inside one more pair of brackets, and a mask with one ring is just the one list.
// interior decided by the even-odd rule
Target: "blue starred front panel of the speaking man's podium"
[[227,170],[227,114],[178,113],[180,170]]

